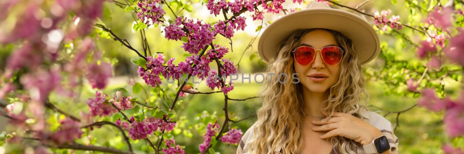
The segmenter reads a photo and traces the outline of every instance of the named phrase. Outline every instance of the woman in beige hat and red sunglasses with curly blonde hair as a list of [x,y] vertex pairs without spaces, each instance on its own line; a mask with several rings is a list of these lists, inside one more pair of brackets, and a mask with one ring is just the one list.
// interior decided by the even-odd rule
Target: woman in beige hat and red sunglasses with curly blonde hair
[[392,124],[365,105],[361,65],[380,51],[368,25],[322,2],[269,25],[258,51],[276,75],[265,78],[258,120],[237,154],[398,154]]

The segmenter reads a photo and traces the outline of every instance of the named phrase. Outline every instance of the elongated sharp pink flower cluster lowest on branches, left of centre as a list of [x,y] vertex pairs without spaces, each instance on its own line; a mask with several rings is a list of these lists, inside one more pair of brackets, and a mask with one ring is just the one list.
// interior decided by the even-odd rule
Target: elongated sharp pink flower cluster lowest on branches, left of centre
[[[168,121],[171,121],[169,118]],[[141,122],[132,122],[129,128],[129,137],[134,140],[140,140],[147,138],[147,135],[152,134],[153,132],[163,131],[169,132],[174,130],[175,122],[166,122],[161,118],[148,117],[143,119]]]

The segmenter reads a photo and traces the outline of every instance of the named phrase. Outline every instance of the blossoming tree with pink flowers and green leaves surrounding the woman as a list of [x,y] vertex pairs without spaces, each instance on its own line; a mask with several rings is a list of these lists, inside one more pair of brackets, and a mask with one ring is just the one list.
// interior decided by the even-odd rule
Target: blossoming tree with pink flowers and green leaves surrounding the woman
[[[409,62],[395,57],[382,44],[379,55],[383,60],[380,69],[364,68],[369,80],[384,80],[389,93],[406,97],[420,97],[416,105],[430,111],[445,111],[443,124],[445,133],[451,138],[464,136],[464,84],[458,90],[445,92],[445,78],[462,81],[464,66],[464,17],[462,0],[406,0],[410,18],[392,15],[391,10],[367,13],[361,6],[345,6],[342,2],[323,1],[332,7],[342,7],[370,18],[374,28],[381,35],[391,35],[402,41],[402,46],[411,46],[417,62]],[[206,23],[201,19],[178,16],[182,10],[192,11],[192,2],[201,3],[211,16],[224,19]],[[230,39],[236,31],[247,27],[245,19],[263,20],[264,14],[284,14],[301,8],[284,8],[285,0],[0,0],[0,47],[6,53],[2,57],[0,69],[0,106],[5,108],[1,116],[9,119],[12,129],[0,134],[0,145],[7,153],[52,153],[68,149],[88,150],[119,154],[146,153],[184,154],[185,146],[176,144],[174,135],[182,119],[175,117],[176,105],[182,97],[195,94],[222,93],[224,95],[224,119],[217,117],[205,120],[197,128],[204,138],[198,143],[198,152],[215,153],[218,142],[237,145],[243,132],[233,126],[244,119],[229,117],[227,93],[234,89],[233,82],[225,77],[237,73],[233,59],[225,59],[229,48],[224,44],[214,44],[216,36]],[[293,0],[302,4],[303,0]],[[119,37],[99,18],[102,17],[104,3],[121,7],[134,15],[132,26],[134,35],[140,33],[142,50],[135,49],[125,38]],[[307,3],[304,1],[303,3]],[[392,0],[396,5],[396,0]],[[174,12],[174,7],[182,9]],[[19,9],[21,11],[13,10]],[[245,12],[251,12],[245,16]],[[171,13],[174,20],[165,16]],[[394,14],[394,13],[393,13]],[[426,18],[418,19],[419,15]],[[13,18],[13,20],[12,20]],[[7,26],[13,22],[14,26]],[[407,24],[403,24],[407,23]],[[164,37],[170,41],[181,41],[188,55],[180,62],[176,57],[165,57],[164,53],[150,48],[145,29],[161,26]],[[258,27],[261,29],[261,26]],[[407,30],[405,30],[407,29]],[[121,43],[122,47],[135,52],[132,62],[144,85],[134,83],[132,92],[118,88],[113,93],[104,93],[108,80],[113,76],[114,62],[105,58],[96,46],[97,37],[109,38]],[[416,43],[412,38],[420,38]],[[231,42],[232,45],[232,42]],[[248,47],[247,47],[248,48]],[[152,52],[153,51],[153,52]],[[167,62],[165,62],[167,60]],[[239,61],[238,61],[239,62]],[[237,63],[238,63],[237,62]],[[210,65],[216,64],[217,68]],[[185,77],[186,76],[186,77]],[[205,80],[213,92],[199,92],[187,84],[191,77]],[[164,80],[176,80],[174,88],[162,87]],[[181,80],[186,79],[186,80]],[[86,110],[80,115],[59,109],[57,95],[72,99],[79,95],[79,87],[88,82],[95,95],[85,101]],[[148,90],[145,87],[149,87]],[[405,90],[396,89],[406,87]],[[144,91],[147,99],[133,97]],[[174,93],[170,93],[173,91]],[[450,96],[448,96],[450,95]],[[155,99],[151,99],[153,96]],[[156,97],[157,96],[157,97]],[[458,96],[452,98],[451,96]],[[257,97],[253,97],[257,98]],[[159,102],[170,105],[159,105]],[[70,101],[63,101],[69,102]],[[158,103],[155,103],[158,102]],[[74,102],[79,103],[79,102]],[[75,104],[69,104],[75,105]],[[389,112],[397,114],[410,110]],[[88,109],[88,110],[87,110]],[[397,118],[398,119],[398,118]],[[396,121],[397,126],[399,124]],[[222,124],[222,125],[220,125]],[[91,137],[92,131],[101,127],[116,130],[116,143],[101,144]],[[188,133],[187,133],[188,134]],[[144,142],[141,144],[141,142]],[[134,149],[138,145],[140,149]],[[64,149],[64,150],[63,150]],[[463,154],[463,150],[444,144],[448,154]]]

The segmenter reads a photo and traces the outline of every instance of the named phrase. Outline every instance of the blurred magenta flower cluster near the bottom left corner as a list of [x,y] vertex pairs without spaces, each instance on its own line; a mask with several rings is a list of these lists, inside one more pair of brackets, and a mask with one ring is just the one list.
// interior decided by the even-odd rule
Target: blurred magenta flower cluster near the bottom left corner
[[77,138],[81,138],[84,133],[79,126],[79,123],[71,118],[64,118],[60,121],[61,125],[58,131],[54,132],[50,139],[58,145],[67,142],[73,142]]

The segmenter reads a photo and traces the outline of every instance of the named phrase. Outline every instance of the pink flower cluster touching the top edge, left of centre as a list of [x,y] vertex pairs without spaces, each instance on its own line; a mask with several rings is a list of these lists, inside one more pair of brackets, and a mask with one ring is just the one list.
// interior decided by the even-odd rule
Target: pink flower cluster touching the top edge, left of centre
[[160,18],[166,14],[161,7],[161,0],[142,0],[137,2],[137,6],[142,10],[137,13],[137,18],[148,26],[159,24]]

